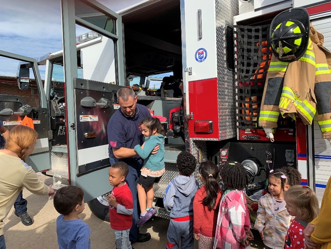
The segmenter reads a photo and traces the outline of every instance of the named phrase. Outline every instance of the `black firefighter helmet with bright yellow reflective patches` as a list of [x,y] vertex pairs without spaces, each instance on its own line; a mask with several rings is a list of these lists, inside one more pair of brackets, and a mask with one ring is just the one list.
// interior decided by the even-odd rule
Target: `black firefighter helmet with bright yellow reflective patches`
[[271,22],[270,43],[273,54],[284,62],[299,60],[309,42],[309,14],[305,8],[291,8]]

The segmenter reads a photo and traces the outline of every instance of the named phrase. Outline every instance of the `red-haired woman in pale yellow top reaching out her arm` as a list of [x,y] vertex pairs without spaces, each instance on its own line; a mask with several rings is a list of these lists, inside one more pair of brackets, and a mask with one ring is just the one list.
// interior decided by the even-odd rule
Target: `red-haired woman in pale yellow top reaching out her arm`
[[0,150],[0,249],[5,249],[4,222],[20,191],[25,187],[36,195],[54,194],[51,186],[40,182],[25,159],[37,143],[38,133],[30,127],[18,125],[8,135],[6,147]]

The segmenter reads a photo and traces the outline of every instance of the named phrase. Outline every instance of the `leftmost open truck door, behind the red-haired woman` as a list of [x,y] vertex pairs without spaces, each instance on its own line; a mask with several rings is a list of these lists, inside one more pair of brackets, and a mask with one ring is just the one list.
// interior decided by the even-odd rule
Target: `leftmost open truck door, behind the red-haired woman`
[[[33,58],[0,50],[1,68],[18,66],[17,77],[0,76],[0,121],[11,130],[25,116],[31,118],[38,139],[34,151],[26,159],[34,171],[50,167],[47,101],[37,61]],[[9,73],[11,74],[11,73]]]

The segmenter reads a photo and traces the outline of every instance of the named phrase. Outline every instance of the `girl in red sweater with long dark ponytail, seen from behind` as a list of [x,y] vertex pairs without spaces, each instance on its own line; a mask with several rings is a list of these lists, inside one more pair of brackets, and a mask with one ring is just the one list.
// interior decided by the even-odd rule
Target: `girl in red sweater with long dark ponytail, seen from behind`
[[193,201],[193,233],[199,249],[213,249],[219,202],[222,196],[216,178],[218,167],[207,161],[200,164],[200,179],[203,186],[196,192]]

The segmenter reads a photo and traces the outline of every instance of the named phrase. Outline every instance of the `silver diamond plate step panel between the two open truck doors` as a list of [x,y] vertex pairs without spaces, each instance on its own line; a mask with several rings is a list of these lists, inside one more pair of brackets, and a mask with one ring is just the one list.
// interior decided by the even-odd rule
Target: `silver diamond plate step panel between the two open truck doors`
[[52,169],[49,170],[49,174],[55,177],[69,178],[68,174],[68,154],[61,152],[52,152]]

